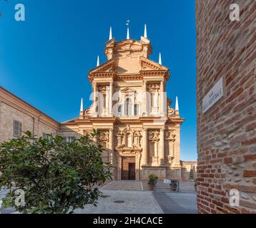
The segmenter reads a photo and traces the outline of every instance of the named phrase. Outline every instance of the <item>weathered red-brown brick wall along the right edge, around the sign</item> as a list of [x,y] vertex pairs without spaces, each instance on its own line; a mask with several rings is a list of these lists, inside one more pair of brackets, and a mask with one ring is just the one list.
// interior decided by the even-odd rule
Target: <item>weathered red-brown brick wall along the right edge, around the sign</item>
[[[230,4],[240,21],[230,21]],[[197,205],[200,213],[256,212],[256,1],[197,0]],[[223,77],[224,96],[202,98]],[[240,206],[229,204],[230,189]]]

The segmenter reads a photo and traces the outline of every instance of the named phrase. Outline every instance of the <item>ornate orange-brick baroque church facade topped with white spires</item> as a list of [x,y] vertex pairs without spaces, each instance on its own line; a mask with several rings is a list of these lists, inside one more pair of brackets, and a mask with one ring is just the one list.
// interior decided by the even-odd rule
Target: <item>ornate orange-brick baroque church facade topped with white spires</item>
[[[111,28],[110,28],[111,29]],[[104,49],[107,61],[89,71],[92,105],[81,103],[78,118],[61,123],[59,133],[77,138],[99,130],[95,140],[106,151],[103,160],[112,164],[115,180],[142,180],[151,173],[160,179],[181,178],[178,101],[166,96],[169,69],[149,60],[151,42],[129,38],[115,41],[110,30]]]

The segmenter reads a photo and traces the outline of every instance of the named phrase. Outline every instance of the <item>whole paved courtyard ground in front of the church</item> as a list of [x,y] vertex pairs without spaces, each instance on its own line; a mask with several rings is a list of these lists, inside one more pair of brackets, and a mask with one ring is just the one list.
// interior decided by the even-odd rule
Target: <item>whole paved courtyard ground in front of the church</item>
[[[88,204],[77,209],[77,214],[195,214],[197,195],[194,182],[180,182],[179,192],[171,192],[169,185],[157,181],[154,191],[149,191],[147,180],[113,180],[105,182],[99,189],[105,197],[100,197],[98,206]],[[0,200],[6,190],[0,190]],[[1,209],[2,214],[14,213],[14,209]]]

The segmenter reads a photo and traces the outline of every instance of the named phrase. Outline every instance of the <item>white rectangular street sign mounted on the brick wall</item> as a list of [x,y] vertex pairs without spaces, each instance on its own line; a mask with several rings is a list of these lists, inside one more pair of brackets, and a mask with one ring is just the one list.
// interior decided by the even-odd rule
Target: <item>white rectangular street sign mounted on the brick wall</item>
[[223,78],[212,87],[212,89],[202,99],[202,113],[204,114],[209,110],[223,96]]

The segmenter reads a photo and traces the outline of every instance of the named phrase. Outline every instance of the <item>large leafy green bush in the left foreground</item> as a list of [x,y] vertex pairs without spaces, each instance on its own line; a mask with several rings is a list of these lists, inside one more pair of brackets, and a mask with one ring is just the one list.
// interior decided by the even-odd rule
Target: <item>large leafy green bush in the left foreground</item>
[[[95,204],[102,192],[96,187],[111,179],[110,165],[102,162],[102,145],[82,136],[67,143],[60,136],[21,138],[0,144],[0,187],[8,187],[4,207],[21,213],[72,213]],[[24,207],[16,206],[15,190],[24,190]]]

